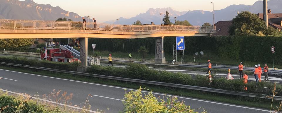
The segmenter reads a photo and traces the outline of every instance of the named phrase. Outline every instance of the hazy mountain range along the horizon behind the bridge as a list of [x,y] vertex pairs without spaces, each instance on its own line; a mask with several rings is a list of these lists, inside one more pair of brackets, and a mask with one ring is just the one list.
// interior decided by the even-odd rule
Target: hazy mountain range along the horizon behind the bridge
[[[272,13],[282,13],[282,0],[269,0],[268,9]],[[213,23],[212,12],[203,10],[193,11],[175,11],[172,8],[150,8],[145,13],[138,14],[131,18],[119,18],[119,24],[132,24],[140,20],[142,24],[160,24],[160,13],[166,10],[169,12],[170,19],[187,20],[192,25],[202,25],[205,22]],[[263,13],[263,1],[256,1],[253,5],[230,5],[221,10],[215,10],[215,23],[217,21],[231,20],[237,12],[250,11],[254,14]],[[33,0],[0,0],[0,19],[25,19],[25,20],[56,20],[60,17],[66,17],[73,21],[81,21],[81,16],[74,12],[61,9],[59,6],[53,7],[50,4],[37,4]],[[117,24],[116,20],[105,21],[105,23]]]

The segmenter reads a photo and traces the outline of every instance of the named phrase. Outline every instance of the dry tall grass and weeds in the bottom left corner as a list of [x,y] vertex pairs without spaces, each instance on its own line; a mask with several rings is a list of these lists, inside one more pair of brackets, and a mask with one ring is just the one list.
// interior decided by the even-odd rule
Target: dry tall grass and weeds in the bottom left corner
[[82,104],[81,109],[70,107],[79,107],[81,105],[72,105],[70,100],[73,98],[73,94],[61,92],[61,90],[56,91],[54,89],[53,92],[42,95],[42,99],[57,104],[33,99],[33,97],[28,94],[10,95],[0,92],[0,113],[89,113],[91,107],[88,104],[88,99]]

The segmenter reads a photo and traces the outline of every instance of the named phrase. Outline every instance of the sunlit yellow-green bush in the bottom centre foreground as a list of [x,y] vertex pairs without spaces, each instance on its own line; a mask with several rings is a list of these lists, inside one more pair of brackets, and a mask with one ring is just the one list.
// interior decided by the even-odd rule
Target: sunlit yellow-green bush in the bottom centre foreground
[[[198,113],[177,97],[156,98],[152,91],[143,97],[142,88],[125,93],[124,113]],[[207,113],[204,109],[202,113]]]

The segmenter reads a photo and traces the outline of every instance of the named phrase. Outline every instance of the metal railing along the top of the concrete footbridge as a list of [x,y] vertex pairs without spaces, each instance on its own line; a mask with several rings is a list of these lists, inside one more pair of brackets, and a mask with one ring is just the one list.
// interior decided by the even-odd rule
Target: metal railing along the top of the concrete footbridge
[[215,26],[179,26],[179,25],[118,25],[80,21],[40,21],[0,19],[0,29],[34,29],[34,30],[100,30],[100,31],[201,31],[215,33]]

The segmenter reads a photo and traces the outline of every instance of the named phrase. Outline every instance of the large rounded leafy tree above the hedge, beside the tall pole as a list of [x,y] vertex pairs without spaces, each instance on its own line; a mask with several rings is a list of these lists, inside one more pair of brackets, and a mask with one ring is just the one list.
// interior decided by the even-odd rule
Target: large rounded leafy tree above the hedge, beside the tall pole
[[249,11],[242,11],[232,19],[229,33],[231,35],[259,35],[267,29],[259,16]]

